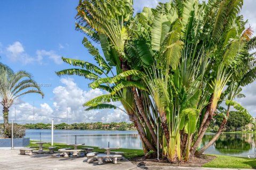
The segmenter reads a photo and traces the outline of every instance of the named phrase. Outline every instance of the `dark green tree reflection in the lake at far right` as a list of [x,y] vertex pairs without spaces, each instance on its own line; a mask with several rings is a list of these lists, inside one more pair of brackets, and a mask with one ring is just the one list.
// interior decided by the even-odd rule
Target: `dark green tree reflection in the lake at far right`
[[250,135],[223,134],[215,141],[215,149],[224,154],[241,154],[251,149]]

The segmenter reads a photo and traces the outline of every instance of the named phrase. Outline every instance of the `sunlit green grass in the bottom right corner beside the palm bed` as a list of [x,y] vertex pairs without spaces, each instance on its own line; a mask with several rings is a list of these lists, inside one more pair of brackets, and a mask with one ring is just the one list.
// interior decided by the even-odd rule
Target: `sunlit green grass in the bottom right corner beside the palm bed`
[[249,159],[244,157],[234,157],[234,156],[222,156],[214,155],[217,158],[213,159],[211,162],[206,163],[203,167],[210,168],[246,168],[255,169],[256,159]]

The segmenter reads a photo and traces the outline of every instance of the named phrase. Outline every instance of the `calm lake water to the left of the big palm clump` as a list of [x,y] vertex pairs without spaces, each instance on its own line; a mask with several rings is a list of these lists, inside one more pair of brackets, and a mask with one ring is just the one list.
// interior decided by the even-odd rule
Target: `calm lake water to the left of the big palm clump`
[[[51,142],[51,130],[26,130],[26,137],[30,140]],[[141,141],[137,131],[88,131],[88,130],[54,130],[54,142],[58,143],[85,143],[87,146],[141,149]]]

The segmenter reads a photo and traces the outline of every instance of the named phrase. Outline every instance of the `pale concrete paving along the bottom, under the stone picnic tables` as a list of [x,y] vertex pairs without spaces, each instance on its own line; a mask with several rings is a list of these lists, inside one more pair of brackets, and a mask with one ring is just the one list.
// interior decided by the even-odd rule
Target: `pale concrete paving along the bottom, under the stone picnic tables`
[[[57,158],[50,154],[41,155],[19,155],[19,150],[0,150],[0,170],[2,169],[86,169],[86,170],[183,170],[183,169],[206,169],[213,170],[216,168],[190,168],[190,167],[168,167],[168,166],[137,166],[133,165],[128,160],[122,160],[113,163],[104,163],[98,165],[98,162],[87,163],[86,157],[80,158]],[[230,169],[229,169],[230,170]]]

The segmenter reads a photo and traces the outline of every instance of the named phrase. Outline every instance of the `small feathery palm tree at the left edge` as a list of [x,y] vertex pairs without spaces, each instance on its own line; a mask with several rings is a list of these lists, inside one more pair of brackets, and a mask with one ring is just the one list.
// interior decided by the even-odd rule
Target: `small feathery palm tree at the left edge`
[[4,131],[9,125],[9,108],[15,99],[26,94],[37,93],[44,97],[41,88],[26,71],[13,72],[0,63],[0,104],[3,106]]

